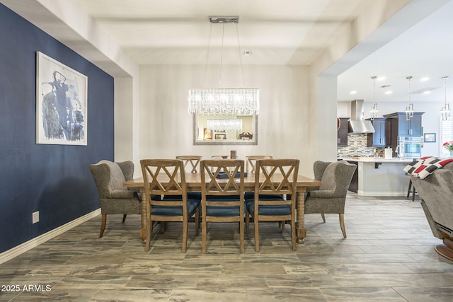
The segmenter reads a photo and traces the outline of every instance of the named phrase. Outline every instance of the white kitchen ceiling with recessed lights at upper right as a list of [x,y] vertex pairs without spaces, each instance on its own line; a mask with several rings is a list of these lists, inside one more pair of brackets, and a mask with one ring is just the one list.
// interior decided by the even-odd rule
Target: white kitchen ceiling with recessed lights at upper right
[[[444,101],[445,83],[442,76],[449,76],[447,98],[453,99],[452,16],[453,1],[450,1],[340,74],[338,100],[408,101],[407,76],[412,76],[411,101],[414,103]],[[375,81],[373,89],[372,76],[385,79]],[[425,78],[429,80],[423,81]],[[430,89],[433,90],[429,94],[423,93]],[[351,95],[351,91],[357,91],[357,94]],[[386,91],[392,93],[385,94]]]

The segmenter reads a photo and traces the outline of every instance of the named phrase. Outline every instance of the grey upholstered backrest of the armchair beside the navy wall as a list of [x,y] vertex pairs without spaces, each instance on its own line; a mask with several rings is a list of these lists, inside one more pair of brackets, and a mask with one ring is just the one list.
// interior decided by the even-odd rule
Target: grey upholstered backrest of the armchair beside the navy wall
[[[123,183],[126,180],[131,180],[132,175],[134,175],[134,163],[132,161],[114,163],[113,161],[102,160],[89,165],[88,168],[93,175],[100,199],[112,198],[113,191],[127,191],[127,187],[123,187]],[[125,178],[125,174],[128,179]]]

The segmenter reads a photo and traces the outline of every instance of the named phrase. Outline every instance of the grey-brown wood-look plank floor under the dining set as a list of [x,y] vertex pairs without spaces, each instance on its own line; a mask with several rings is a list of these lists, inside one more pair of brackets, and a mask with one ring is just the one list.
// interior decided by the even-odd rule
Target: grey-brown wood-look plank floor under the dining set
[[348,238],[338,215],[309,214],[297,252],[276,223],[260,225],[259,253],[251,227],[239,254],[237,223],[211,223],[205,255],[193,223],[187,253],[178,223],[145,252],[139,216],[121,219],[108,216],[101,239],[98,216],[0,265],[0,284],[20,286],[0,301],[453,301],[453,262],[435,252],[419,199],[350,193]]

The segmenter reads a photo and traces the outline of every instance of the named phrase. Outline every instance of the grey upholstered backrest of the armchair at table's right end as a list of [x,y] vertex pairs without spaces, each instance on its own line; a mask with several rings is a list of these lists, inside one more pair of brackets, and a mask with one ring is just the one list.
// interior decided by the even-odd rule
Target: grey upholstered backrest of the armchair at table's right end
[[322,185],[319,190],[333,191],[333,198],[346,197],[356,168],[357,165],[347,161],[329,163],[321,177]]

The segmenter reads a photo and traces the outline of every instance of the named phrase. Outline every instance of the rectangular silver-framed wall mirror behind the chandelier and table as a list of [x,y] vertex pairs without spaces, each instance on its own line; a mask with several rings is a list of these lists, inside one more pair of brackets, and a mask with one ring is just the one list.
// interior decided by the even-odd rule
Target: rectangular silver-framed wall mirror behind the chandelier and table
[[258,115],[193,113],[194,145],[256,145]]

